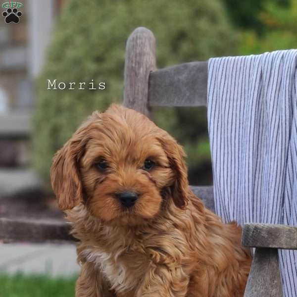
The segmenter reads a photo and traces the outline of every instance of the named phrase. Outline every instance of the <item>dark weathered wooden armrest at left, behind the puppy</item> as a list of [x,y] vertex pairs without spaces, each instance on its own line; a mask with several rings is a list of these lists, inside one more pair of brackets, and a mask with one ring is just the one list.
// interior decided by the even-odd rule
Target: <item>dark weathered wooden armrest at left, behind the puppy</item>
[[0,218],[0,241],[11,242],[74,242],[70,224],[63,220]]

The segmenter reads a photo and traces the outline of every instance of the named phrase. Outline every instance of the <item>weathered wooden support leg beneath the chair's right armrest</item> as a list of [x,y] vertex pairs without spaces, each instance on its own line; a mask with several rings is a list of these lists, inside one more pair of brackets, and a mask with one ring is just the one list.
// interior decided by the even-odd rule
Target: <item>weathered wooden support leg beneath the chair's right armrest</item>
[[282,297],[278,251],[256,248],[244,297]]

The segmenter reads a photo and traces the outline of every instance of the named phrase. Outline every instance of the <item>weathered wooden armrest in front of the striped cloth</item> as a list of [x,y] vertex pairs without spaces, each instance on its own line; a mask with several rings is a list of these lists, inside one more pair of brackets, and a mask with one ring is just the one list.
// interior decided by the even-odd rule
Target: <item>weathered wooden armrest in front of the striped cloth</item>
[[246,247],[297,249],[297,227],[245,224],[242,245]]

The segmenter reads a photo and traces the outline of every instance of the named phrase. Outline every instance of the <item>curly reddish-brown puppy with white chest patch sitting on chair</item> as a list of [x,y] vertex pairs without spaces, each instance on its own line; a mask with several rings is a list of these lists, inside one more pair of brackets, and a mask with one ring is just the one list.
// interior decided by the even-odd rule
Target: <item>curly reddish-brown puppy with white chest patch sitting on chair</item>
[[[76,297],[243,297],[241,228],[189,189],[184,156],[145,115],[115,104],[55,154],[52,188],[80,241]],[[123,207],[123,191],[137,193],[135,205]]]

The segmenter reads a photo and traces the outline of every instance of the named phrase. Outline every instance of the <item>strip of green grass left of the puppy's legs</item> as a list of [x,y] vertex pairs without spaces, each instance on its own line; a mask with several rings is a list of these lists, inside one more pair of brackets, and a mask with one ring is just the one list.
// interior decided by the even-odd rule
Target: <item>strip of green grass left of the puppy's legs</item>
[[74,297],[76,278],[0,274],[0,297]]

